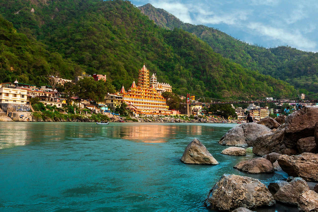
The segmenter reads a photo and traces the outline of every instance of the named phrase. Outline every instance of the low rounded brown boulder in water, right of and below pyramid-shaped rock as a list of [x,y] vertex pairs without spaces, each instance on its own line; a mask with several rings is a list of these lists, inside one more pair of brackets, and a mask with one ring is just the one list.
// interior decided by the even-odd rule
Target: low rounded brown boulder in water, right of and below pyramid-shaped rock
[[271,161],[265,158],[253,158],[248,161],[241,161],[234,168],[250,174],[271,173],[274,171]]

